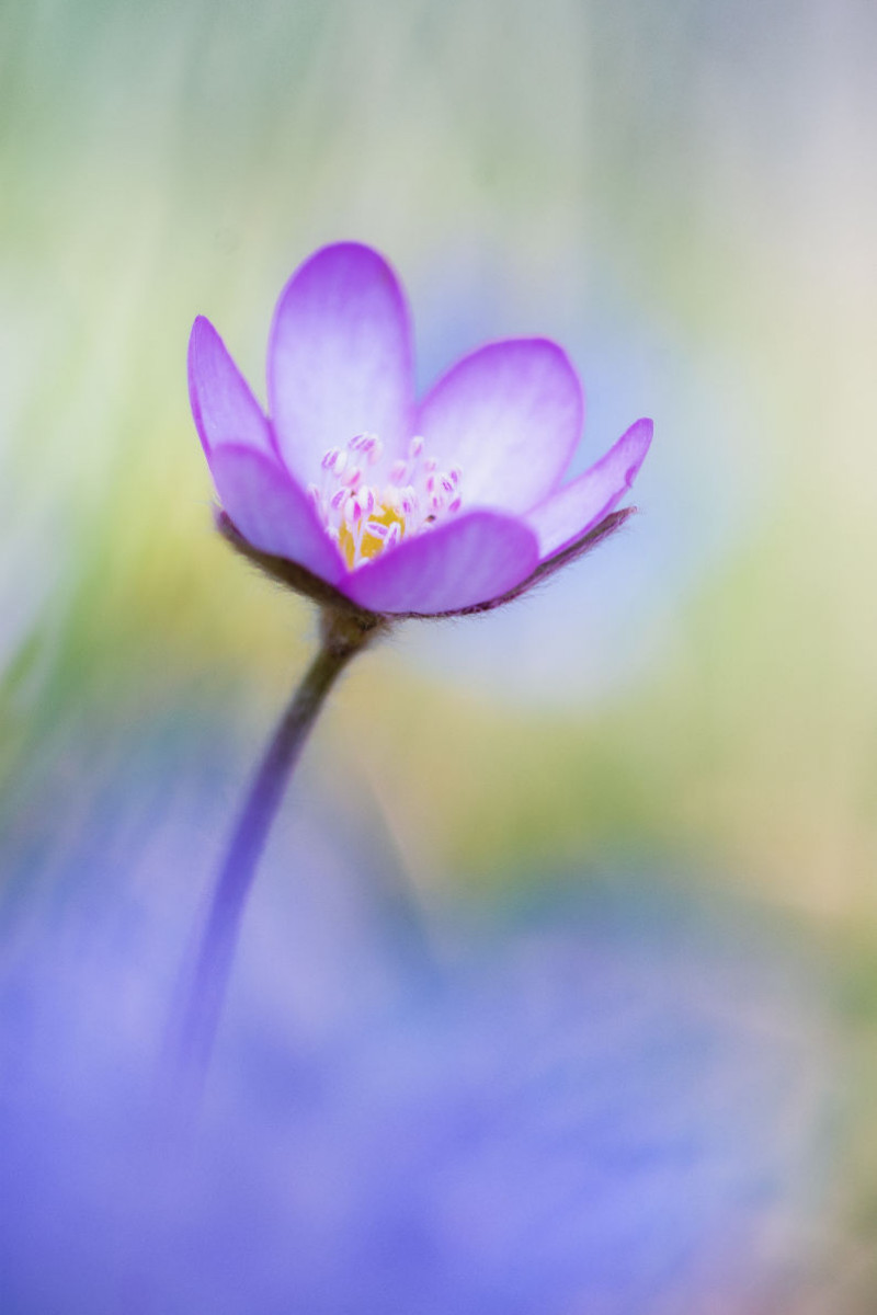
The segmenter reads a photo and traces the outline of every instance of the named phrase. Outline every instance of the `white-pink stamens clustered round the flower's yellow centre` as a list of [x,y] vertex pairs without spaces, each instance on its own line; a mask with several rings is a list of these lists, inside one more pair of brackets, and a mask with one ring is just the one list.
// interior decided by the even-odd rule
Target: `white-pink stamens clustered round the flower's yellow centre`
[[389,471],[383,469],[376,434],[358,434],[346,448],[330,447],[320,466],[321,483],[309,484],[308,493],[351,571],[460,510],[460,471],[439,471],[419,435]]

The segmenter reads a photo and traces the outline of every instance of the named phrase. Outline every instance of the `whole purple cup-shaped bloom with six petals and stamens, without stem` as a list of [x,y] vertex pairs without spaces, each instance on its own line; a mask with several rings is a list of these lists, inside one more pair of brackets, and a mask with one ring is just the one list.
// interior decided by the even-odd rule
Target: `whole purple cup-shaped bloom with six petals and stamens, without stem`
[[584,418],[579,376],[546,338],[488,343],[418,404],[405,296],[354,242],[310,256],[268,343],[266,417],[204,317],[189,394],[221,529],[316,597],[440,615],[515,597],[619,525],[652,437],[639,419],[561,485]]

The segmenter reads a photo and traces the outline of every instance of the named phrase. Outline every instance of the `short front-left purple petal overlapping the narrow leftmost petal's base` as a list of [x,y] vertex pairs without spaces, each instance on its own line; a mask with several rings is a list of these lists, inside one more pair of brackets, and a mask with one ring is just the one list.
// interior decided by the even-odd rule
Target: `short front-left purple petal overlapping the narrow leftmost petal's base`
[[276,456],[224,443],[209,460],[222,506],[254,548],[297,562],[330,584],[341,579],[344,563],[338,548]]

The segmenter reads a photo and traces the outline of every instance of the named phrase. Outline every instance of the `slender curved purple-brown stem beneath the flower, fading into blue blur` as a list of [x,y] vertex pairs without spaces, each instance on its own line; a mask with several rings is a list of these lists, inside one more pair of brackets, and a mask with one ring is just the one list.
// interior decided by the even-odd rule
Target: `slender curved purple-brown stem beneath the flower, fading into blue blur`
[[197,1102],[204,1085],[247,897],[287,782],[330,689],[354,654],[385,625],[379,617],[322,613],[320,650],[255,773],[220,868],[195,972],[175,1020],[172,1063],[187,1103]]

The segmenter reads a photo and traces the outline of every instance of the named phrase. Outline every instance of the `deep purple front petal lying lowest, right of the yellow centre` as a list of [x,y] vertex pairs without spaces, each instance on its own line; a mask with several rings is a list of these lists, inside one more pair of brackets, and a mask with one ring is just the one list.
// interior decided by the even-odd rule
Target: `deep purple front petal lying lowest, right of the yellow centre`
[[455,611],[514,588],[538,560],[522,521],[469,512],[373,558],[339,588],[372,611]]

